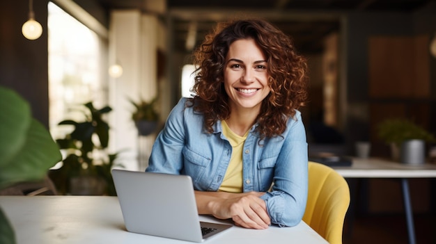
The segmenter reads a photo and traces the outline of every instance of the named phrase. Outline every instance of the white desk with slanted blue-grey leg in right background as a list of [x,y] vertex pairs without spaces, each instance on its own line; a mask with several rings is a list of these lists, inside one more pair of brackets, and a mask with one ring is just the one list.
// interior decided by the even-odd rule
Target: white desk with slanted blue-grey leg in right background
[[353,158],[350,167],[333,167],[344,178],[396,178],[401,180],[409,243],[416,243],[409,178],[436,178],[436,165],[407,165],[380,158]]

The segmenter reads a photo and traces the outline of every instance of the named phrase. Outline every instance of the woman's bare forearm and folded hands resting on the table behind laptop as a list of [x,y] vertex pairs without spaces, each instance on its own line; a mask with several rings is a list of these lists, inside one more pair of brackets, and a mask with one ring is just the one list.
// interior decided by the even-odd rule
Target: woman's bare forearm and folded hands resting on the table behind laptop
[[235,225],[245,228],[267,229],[271,220],[265,201],[260,199],[263,194],[196,191],[198,213],[220,219],[231,218]]

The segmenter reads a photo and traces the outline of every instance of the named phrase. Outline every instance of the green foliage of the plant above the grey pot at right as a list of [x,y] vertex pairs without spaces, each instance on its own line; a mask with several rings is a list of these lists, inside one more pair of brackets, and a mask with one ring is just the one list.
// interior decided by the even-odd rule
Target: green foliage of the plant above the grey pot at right
[[410,140],[422,140],[425,143],[435,142],[435,136],[418,124],[403,118],[387,119],[377,125],[377,135],[391,146],[392,158],[400,158],[403,143]]

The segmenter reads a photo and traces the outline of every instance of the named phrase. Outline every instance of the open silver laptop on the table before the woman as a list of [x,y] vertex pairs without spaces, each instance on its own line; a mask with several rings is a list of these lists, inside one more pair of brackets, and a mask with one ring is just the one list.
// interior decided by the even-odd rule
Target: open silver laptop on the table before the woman
[[200,222],[187,175],[112,170],[127,231],[203,242],[233,225]]

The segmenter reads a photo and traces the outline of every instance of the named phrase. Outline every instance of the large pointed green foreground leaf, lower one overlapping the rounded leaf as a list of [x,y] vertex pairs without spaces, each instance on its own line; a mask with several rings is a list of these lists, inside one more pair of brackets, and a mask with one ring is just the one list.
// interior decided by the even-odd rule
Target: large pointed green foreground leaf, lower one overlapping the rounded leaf
[[61,160],[61,151],[50,133],[38,120],[32,119],[24,147],[8,165],[0,167],[0,188],[42,179],[48,169]]

